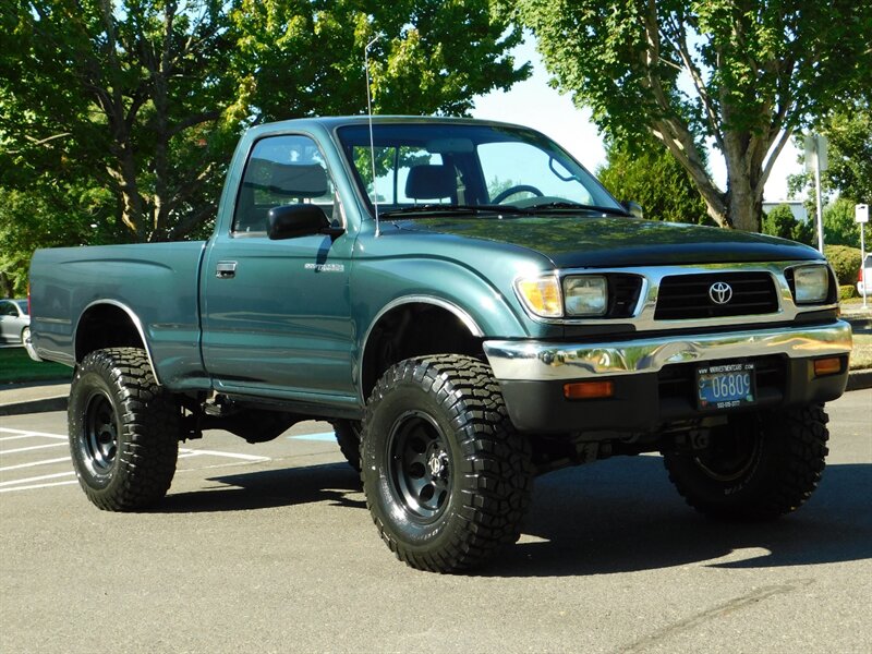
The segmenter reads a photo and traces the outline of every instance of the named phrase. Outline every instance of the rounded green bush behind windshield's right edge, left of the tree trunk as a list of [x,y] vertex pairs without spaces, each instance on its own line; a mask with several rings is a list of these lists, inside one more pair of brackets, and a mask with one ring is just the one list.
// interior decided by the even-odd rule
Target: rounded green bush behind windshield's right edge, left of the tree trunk
[[705,203],[681,165],[649,137],[645,149],[607,144],[607,162],[596,171],[606,189],[620,199],[642,205],[645,218],[706,223]]

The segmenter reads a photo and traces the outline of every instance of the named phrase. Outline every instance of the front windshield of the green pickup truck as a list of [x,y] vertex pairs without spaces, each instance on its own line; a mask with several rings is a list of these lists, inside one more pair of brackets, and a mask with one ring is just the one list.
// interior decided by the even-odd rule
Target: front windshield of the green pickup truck
[[469,123],[375,123],[338,130],[364,197],[383,216],[431,213],[605,213],[623,207],[542,134]]

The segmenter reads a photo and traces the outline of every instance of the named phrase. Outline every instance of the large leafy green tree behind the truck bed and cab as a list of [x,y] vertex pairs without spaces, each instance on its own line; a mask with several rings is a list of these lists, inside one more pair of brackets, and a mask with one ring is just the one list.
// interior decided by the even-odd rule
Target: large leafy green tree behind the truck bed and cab
[[463,113],[529,74],[487,0],[24,0],[0,4],[0,189],[45,216],[66,189],[105,191],[86,222],[116,240],[202,235],[243,128],[363,112],[375,35],[379,112]]

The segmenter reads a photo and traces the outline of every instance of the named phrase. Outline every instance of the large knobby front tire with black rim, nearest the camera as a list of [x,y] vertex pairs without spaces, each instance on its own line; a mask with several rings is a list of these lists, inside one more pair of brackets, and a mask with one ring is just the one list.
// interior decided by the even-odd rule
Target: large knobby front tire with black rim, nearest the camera
[[373,521],[413,568],[469,569],[518,540],[530,444],[475,359],[433,355],[388,370],[366,409],[361,463]]

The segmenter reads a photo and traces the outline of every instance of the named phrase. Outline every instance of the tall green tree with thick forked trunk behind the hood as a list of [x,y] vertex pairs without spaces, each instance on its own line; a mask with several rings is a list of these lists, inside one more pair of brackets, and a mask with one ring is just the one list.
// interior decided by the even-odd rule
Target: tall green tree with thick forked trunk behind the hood
[[[872,4],[855,0],[501,0],[555,84],[620,141],[654,133],[720,226],[758,230],[795,130],[869,88]],[[863,86],[864,85],[864,86]],[[703,157],[713,143],[727,187]]]

